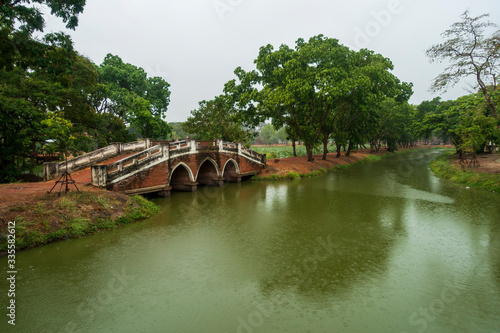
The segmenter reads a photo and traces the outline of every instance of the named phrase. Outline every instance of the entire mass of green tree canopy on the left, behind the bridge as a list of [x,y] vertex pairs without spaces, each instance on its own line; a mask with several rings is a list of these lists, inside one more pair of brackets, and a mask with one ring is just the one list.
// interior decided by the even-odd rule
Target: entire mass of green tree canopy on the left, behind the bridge
[[114,55],[97,66],[63,33],[33,37],[44,29],[42,6],[74,29],[84,5],[84,0],[0,3],[0,182],[32,169],[41,153],[79,154],[170,133],[165,80]]

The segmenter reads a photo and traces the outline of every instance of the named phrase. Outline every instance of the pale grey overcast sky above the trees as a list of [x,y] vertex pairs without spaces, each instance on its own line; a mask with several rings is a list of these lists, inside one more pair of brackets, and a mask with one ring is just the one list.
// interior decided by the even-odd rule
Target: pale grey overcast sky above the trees
[[[201,100],[222,93],[241,66],[255,68],[261,46],[291,47],[298,38],[323,34],[352,49],[390,58],[394,74],[413,82],[410,100],[430,100],[431,81],[444,65],[425,50],[469,9],[500,23],[499,0],[87,0],[76,31],[76,49],[100,64],[107,53],[161,76],[171,85],[167,121],[185,121]],[[63,30],[47,18],[45,32]],[[468,92],[461,84],[440,96]]]

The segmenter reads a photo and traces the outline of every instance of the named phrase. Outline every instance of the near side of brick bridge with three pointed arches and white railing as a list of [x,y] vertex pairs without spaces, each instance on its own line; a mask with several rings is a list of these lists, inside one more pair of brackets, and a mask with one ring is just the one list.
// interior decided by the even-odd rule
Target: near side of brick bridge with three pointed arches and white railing
[[92,185],[126,194],[197,191],[198,185],[240,182],[266,166],[266,155],[222,140],[155,142],[109,165],[92,166]]

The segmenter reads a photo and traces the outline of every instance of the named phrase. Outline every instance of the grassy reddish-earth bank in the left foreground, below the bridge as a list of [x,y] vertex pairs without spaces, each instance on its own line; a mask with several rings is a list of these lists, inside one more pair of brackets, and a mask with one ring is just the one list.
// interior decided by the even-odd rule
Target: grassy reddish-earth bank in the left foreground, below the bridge
[[16,222],[16,249],[20,250],[115,229],[149,218],[158,210],[140,196],[111,192],[70,192],[60,197],[46,194],[4,212],[4,220],[0,221],[0,254],[7,249],[7,221]]

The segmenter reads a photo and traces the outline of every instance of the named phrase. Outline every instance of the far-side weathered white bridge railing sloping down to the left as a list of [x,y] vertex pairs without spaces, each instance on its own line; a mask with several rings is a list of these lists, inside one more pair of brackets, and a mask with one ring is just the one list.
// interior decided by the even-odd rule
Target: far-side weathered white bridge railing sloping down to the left
[[69,173],[88,168],[96,163],[101,163],[107,159],[138,150],[151,147],[151,139],[130,143],[114,143],[107,147],[95,150],[93,152],[69,159],[67,162],[50,162],[43,164],[43,173],[45,180],[51,180],[61,176],[66,170]]

